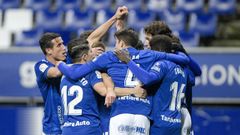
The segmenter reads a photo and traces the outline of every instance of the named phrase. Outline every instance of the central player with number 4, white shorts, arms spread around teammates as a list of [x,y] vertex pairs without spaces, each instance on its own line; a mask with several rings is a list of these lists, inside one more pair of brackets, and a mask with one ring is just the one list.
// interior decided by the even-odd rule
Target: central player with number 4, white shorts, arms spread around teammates
[[[131,58],[144,69],[148,70],[156,60],[167,57],[183,63],[188,62],[184,56],[134,49],[134,45],[138,43],[138,36],[133,30],[123,29],[117,31],[115,36],[116,48],[129,50]],[[127,65],[120,62],[113,52],[106,52],[82,65],[81,68],[72,68],[62,62],[59,63],[58,68],[71,79],[81,78],[93,70],[105,70],[111,76],[116,87],[131,88],[138,84],[138,80],[127,68]],[[118,97],[112,105],[110,135],[149,134],[150,102],[151,97],[146,99],[137,98],[134,95]]]

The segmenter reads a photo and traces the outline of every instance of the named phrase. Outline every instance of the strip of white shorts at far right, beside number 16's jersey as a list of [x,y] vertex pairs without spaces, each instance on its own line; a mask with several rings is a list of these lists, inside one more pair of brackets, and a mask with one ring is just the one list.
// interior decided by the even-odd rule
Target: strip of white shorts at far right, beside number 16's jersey
[[182,114],[182,135],[190,135],[191,126],[192,126],[192,120],[190,113],[188,112],[187,108],[182,107],[181,108],[181,114]]

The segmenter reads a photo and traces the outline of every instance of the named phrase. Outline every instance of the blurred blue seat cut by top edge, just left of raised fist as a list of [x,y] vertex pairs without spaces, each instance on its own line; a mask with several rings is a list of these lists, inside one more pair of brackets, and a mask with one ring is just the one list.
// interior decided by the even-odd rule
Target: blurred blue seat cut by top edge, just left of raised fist
[[111,7],[111,0],[86,0],[85,7],[94,11],[108,9]]

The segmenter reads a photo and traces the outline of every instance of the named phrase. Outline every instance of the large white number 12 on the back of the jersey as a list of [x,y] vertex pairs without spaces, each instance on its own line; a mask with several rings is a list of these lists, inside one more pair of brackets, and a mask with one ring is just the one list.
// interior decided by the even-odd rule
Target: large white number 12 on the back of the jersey
[[[74,96],[76,97],[67,102],[67,97]],[[61,90],[62,102],[64,106],[64,115],[82,115],[82,109],[75,109],[75,106],[80,103],[83,99],[83,90],[80,86],[74,85],[67,90],[67,86],[63,86]]]

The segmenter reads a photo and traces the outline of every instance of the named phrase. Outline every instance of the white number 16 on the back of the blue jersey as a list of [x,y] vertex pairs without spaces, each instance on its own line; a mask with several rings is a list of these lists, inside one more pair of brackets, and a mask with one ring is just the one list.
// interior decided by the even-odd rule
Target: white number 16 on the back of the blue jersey
[[[182,84],[180,89],[178,90],[178,82],[173,82],[170,86],[170,91],[172,91],[172,100],[169,106],[169,110],[175,111],[176,109],[179,111],[181,108],[181,101],[184,97],[184,90],[185,84]],[[176,105],[177,104],[177,105]]]

